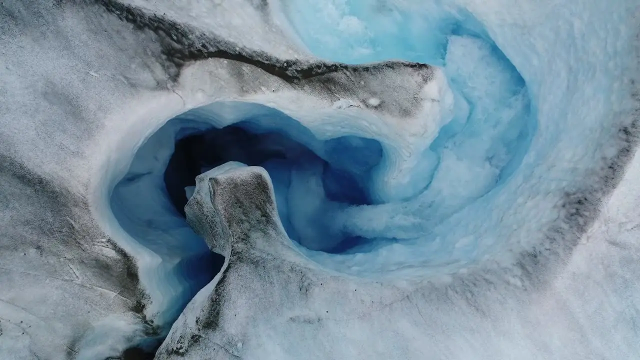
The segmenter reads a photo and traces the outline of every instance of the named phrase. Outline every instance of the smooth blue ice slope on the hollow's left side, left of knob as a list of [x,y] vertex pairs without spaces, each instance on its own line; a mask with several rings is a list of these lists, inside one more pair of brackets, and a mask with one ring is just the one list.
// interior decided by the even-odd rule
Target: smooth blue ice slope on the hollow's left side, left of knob
[[159,257],[166,302],[157,322],[172,322],[182,307],[218,273],[222,257],[209,251],[164,192],[163,172],[173,152],[175,132],[167,126],[136,152],[129,170],[111,194],[111,210],[122,229]]

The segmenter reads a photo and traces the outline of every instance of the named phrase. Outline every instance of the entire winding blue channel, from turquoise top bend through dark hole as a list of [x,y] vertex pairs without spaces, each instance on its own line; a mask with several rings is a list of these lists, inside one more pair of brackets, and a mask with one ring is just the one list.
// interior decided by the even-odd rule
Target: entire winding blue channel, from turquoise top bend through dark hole
[[[366,6],[350,9],[360,19],[368,14]],[[221,259],[189,228],[183,210],[195,177],[210,168],[227,161],[266,168],[289,237],[309,258],[353,272],[342,266],[345,257],[362,257],[407,241],[434,243],[441,236],[434,233],[435,225],[507,181],[518,167],[535,133],[536,120],[524,80],[504,54],[475,22],[463,28],[460,17],[452,15],[433,13],[434,21],[429,22],[387,10],[380,24],[395,30],[379,28],[377,35],[367,31],[370,41],[357,42],[358,46],[369,44],[371,51],[349,49],[356,46],[357,37],[349,38],[353,43],[333,47],[314,37],[304,40],[319,56],[333,54],[331,60],[336,61],[401,58],[444,67],[456,96],[454,119],[420,154],[422,160],[413,169],[414,184],[393,189],[401,195],[387,201],[375,186],[384,181],[387,166],[378,141],[356,136],[321,141],[297,120],[257,104],[212,104],[179,115],[136,153],[111,197],[111,208],[122,228],[161,256],[158,271],[166,272],[168,282],[175,282],[168,286],[171,291],[165,297],[167,308],[175,309],[166,314],[167,319],[220,266]],[[291,17],[294,25],[304,19],[300,14]],[[349,19],[345,26],[357,25],[355,18]],[[303,37],[317,35],[299,30]],[[418,33],[424,35],[407,35]],[[249,115],[231,122],[216,117],[216,107]],[[450,261],[447,250],[431,251],[429,257]],[[326,254],[341,254],[342,259]],[[472,252],[461,255],[472,256]],[[385,267],[380,261],[376,266]],[[358,272],[375,275],[366,269]]]

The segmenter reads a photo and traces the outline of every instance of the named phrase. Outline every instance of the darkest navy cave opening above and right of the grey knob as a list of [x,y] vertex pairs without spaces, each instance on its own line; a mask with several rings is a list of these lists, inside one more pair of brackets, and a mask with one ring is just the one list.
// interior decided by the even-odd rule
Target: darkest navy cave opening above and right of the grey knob
[[229,161],[264,167],[289,238],[310,250],[339,254],[365,239],[336,228],[332,215],[373,203],[371,176],[382,156],[376,140],[340,136],[319,141],[312,150],[284,131],[244,121],[177,138],[163,179],[173,207],[184,217],[196,176]]

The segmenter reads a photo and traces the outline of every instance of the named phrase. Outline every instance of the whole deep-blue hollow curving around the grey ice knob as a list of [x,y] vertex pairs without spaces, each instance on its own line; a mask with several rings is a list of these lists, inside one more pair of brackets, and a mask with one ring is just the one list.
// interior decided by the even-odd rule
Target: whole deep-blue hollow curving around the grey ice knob
[[266,168],[287,234],[307,249],[336,253],[361,239],[335,228],[332,218],[371,204],[371,172],[382,157],[376,140],[319,140],[259,104],[216,102],[169,120],[141,145],[111,193],[122,229],[160,258],[154,271],[164,310],[157,324],[170,324],[223,263],[186,222],[196,176],[230,162]]

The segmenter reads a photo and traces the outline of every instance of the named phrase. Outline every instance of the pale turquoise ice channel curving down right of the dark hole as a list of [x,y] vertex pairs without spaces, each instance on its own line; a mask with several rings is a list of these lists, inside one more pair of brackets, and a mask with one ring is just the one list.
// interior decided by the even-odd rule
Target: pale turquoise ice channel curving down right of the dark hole
[[[532,224],[541,234],[557,218],[551,209],[563,192],[593,166],[593,158],[575,149],[598,151],[596,146],[617,131],[609,124],[620,120],[607,114],[616,106],[614,96],[628,105],[627,95],[604,94],[620,90],[614,79],[621,76],[624,67],[617,61],[623,57],[593,54],[604,34],[584,28],[579,20],[558,26],[557,33],[541,30],[539,39],[500,25],[487,29],[458,3],[475,4],[282,0],[296,36],[317,56],[346,63],[401,59],[437,65],[455,95],[454,118],[420,154],[422,166],[413,169],[417,173],[412,179],[428,179],[427,185],[413,196],[342,211],[335,220],[338,226],[367,241],[349,254],[306,252],[324,266],[363,276],[417,267],[422,270],[414,275],[425,276],[477,263],[500,247],[501,254],[508,254],[535,237],[516,235],[514,229]],[[602,6],[584,3],[580,10],[620,15],[595,10]],[[502,9],[474,8],[484,20],[495,16],[494,22],[505,26]],[[554,11],[545,12],[545,20]],[[592,20],[616,24],[613,17]],[[612,25],[602,28],[621,31]],[[620,33],[625,36],[629,34]],[[609,56],[625,48],[623,42],[609,45]],[[606,156],[618,146],[611,141]]]

